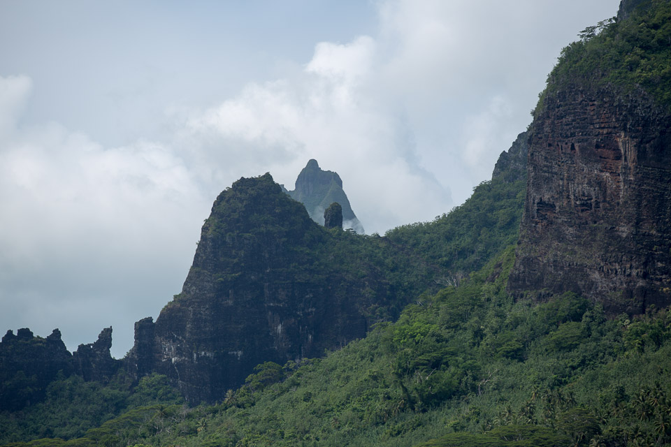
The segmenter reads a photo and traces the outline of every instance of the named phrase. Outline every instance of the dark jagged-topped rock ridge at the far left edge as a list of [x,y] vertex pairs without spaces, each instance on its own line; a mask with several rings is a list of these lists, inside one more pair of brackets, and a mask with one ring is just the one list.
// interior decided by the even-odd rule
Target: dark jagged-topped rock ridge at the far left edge
[[73,371],[71,354],[55,329],[47,338],[34,337],[27,328],[8,330],[0,342],[0,411],[15,411],[44,396],[59,372]]

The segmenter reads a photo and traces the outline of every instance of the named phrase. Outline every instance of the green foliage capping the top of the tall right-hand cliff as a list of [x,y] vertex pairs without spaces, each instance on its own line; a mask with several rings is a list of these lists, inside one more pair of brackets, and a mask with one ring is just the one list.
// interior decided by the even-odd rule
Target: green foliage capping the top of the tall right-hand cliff
[[642,88],[671,107],[671,2],[650,0],[624,20],[587,27],[565,47],[548,76],[544,95],[565,85]]

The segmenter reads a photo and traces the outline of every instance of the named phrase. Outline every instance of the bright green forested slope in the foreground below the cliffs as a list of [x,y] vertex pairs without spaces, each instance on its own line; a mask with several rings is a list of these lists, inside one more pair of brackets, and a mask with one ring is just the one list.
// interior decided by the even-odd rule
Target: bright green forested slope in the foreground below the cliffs
[[221,404],[143,406],[80,439],[13,445],[671,442],[671,312],[607,319],[572,293],[515,302],[513,258],[511,247],[326,358],[259,365]]

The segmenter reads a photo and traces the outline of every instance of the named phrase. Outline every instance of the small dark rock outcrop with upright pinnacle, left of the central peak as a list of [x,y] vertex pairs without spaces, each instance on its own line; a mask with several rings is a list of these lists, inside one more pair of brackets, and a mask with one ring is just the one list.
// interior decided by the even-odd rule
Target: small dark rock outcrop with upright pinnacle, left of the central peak
[[108,381],[121,366],[110,354],[112,328],[105,328],[95,343],[80,344],[72,354],[75,373],[85,381]]

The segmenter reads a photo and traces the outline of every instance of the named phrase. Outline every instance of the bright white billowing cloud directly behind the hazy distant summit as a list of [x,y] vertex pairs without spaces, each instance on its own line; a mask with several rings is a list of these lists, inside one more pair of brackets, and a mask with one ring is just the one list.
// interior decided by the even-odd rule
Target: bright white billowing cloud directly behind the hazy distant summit
[[216,166],[224,158],[235,159],[236,168],[264,166],[289,188],[306,161],[317,159],[340,174],[369,231],[433,218],[452,205],[449,191],[417,164],[396,111],[370,94],[376,58],[369,36],[318,43],[294,78],[247,85],[236,98],[189,117],[181,138],[222,148],[201,152]]

